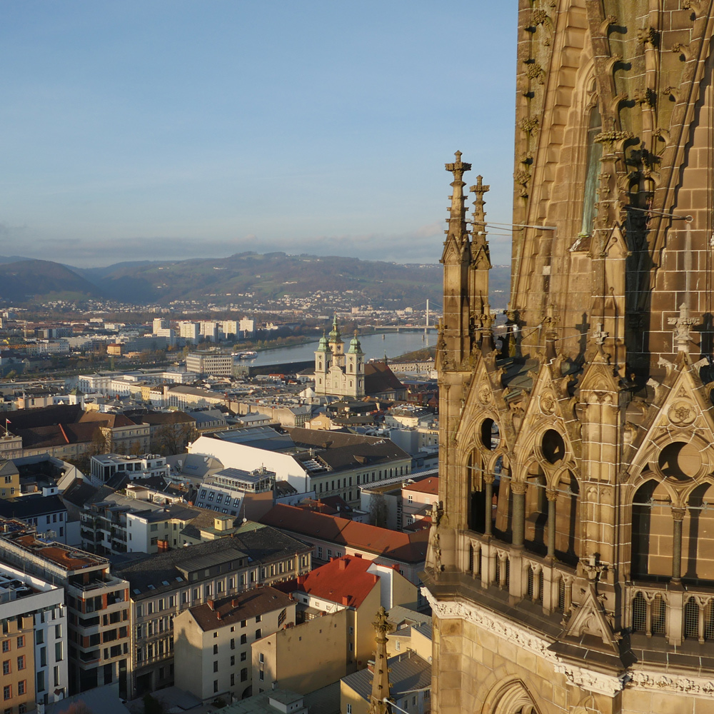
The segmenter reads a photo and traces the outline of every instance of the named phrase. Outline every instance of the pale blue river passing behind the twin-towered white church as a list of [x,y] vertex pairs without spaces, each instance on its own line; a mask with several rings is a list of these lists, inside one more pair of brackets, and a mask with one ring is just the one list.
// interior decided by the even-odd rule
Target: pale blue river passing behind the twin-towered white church
[[[345,342],[345,351],[348,350],[351,335],[342,336]],[[364,353],[365,361],[381,359],[386,356],[396,358],[407,352],[421,350],[436,344],[436,332],[429,331],[424,339],[421,332],[388,332],[376,335],[365,335],[359,338]],[[282,364],[285,362],[301,362],[315,358],[315,351],[319,340],[304,345],[291,347],[278,347],[274,350],[265,350],[258,353],[253,359],[236,359],[236,363],[262,366],[266,364]]]

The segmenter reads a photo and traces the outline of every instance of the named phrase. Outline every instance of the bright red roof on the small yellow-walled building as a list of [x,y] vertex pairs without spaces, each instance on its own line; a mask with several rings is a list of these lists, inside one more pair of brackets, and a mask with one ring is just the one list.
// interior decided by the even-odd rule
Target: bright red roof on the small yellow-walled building
[[367,558],[343,555],[298,578],[295,590],[321,600],[358,608],[379,582],[379,575],[368,573]]

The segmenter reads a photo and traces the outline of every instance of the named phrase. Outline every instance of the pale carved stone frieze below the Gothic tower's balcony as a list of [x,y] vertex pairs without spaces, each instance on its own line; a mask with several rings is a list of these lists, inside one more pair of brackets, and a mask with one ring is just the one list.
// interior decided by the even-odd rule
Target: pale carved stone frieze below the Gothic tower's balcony
[[496,615],[496,613],[491,613],[486,609],[479,608],[476,603],[466,604],[436,600],[426,587],[421,588],[421,592],[431,605],[434,615],[439,619],[468,620],[480,628],[488,630],[497,637],[543,658],[543,660],[553,665],[556,672],[564,675],[568,682],[575,686],[597,694],[614,697],[623,689],[625,682],[628,680],[628,675],[613,677],[599,672],[593,672],[592,670],[578,667],[577,665],[564,663],[558,658],[558,655],[549,649],[550,642],[548,642],[548,640],[531,634],[526,628],[514,625],[511,620],[501,618]]

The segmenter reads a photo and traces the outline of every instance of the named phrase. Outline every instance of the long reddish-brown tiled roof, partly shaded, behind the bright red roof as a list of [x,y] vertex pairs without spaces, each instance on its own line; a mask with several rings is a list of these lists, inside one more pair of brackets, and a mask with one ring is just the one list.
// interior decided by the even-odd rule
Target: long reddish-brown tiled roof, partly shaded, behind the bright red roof
[[422,563],[426,559],[428,533],[398,533],[388,528],[368,526],[366,523],[347,521],[345,518],[325,513],[306,511],[296,506],[273,506],[261,523],[303,537],[329,540],[332,543],[401,560],[403,563]]

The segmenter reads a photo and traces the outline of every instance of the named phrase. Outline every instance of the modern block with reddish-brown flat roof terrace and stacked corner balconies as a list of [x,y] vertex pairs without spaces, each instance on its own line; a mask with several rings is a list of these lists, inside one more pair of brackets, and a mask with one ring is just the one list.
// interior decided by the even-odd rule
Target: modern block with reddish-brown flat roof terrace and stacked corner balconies
[[70,692],[116,681],[125,692],[129,583],[109,573],[106,558],[39,538],[24,523],[11,523],[0,533],[0,561],[64,587]]

